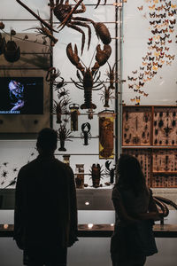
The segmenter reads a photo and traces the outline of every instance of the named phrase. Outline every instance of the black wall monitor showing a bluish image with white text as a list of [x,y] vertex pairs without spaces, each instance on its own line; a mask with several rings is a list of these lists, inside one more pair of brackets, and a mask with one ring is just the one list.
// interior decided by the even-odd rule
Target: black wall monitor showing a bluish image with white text
[[43,114],[43,77],[0,77],[0,114]]

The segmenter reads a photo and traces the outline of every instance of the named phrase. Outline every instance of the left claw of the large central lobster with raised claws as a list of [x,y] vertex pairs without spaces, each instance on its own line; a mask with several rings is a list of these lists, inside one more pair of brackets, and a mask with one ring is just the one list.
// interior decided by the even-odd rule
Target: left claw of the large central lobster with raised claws
[[67,54],[68,59],[73,64],[73,66],[76,66],[81,71],[84,71],[84,67],[81,66],[81,63],[80,63],[80,58],[78,56],[78,49],[77,49],[76,44],[74,45],[74,52],[73,52],[72,43],[69,43],[66,47],[66,54]]

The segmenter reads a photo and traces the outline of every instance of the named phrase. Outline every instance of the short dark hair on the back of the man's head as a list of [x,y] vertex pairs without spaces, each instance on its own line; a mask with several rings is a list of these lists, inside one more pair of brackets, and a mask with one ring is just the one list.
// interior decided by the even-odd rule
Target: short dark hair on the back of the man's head
[[37,148],[42,149],[44,152],[55,151],[58,143],[58,133],[54,129],[42,129],[37,137]]

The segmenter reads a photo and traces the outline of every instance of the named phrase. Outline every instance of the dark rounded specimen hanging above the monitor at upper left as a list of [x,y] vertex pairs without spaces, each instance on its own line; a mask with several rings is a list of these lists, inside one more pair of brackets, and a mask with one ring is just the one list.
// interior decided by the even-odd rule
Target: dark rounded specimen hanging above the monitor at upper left
[[11,31],[11,41],[8,41],[4,45],[4,58],[11,63],[18,61],[20,58],[19,47],[17,46],[17,43],[12,41],[12,35],[16,35],[14,30]]

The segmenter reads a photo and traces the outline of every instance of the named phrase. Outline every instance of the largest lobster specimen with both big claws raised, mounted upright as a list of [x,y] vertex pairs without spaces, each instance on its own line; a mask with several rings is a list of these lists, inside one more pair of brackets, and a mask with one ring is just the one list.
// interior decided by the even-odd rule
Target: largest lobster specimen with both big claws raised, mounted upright
[[[72,43],[69,43],[66,48],[66,54],[68,59],[74,66],[81,71],[81,74],[77,70],[77,77],[80,82],[74,82],[78,89],[84,90],[84,104],[81,105],[81,109],[96,109],[96,105],[92,103],[92,90],[100,90],[104,87],[103,82],[98,82],[100,73],[96,76],[100,66],[104,66],[109,57],[111,56],[112,48],[109,44],[104,44],[104,50],[101,50],[100,44],[96,46],[96,63],[91,69],[84,67],[80,63],[78,56],[77,46],[74,46],[74,52],[72,49]],[[81,83],[81,84],[80,84]]]

